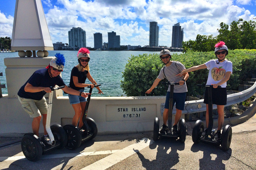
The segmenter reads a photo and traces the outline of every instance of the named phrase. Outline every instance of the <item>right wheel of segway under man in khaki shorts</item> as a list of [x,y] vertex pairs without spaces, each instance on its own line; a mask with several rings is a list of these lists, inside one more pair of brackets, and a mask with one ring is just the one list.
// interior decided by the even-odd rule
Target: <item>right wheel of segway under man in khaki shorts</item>
[[67,145],[68,136],[63,127],[59,124],[51,125],[51,131],[54,136],[54,140],[58,143],[60,142],[60,146],[58,149],[62,149]]

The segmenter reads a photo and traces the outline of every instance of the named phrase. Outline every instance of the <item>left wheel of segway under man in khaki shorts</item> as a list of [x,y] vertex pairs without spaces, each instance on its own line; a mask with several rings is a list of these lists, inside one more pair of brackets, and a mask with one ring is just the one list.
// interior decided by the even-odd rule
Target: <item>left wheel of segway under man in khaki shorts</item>
[[21,140],[21,149],[28,160],[36,161],[41,158],[43,148],[40,139],[33,133],[27,133]]

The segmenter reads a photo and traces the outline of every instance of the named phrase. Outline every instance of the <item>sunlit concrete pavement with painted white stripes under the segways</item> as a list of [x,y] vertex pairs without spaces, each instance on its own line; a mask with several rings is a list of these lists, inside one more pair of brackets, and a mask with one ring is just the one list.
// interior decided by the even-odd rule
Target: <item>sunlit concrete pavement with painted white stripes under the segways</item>
[[24,158],[20,143],[0,148],[0,169],[256,169],[256,116],[232,127],[228,151],[191,140],[153,141],[153,133],[99,135],[76,150],[54,150],[37,162]]

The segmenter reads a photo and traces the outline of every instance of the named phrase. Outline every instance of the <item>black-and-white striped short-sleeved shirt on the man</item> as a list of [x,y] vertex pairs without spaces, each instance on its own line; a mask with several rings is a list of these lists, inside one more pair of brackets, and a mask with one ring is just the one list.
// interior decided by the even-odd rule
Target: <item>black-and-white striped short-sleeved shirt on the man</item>
[[[164,66],[159,75],[158,75],[158,79],[163,80],[166,76],[166,79],[171,82],[171,83],[176,83],[181,81],[183,78],[176,76],[177,74],[179,74],[182,70],[185,70],[186,67],[181,64],[180,62],[172,62],[172,64],[170,66]],[[168,87],[168,90],[170,91],[170,86]],[[186,82],[183,85],[174,85],[174,89],[173,92],[187,92],[187,84]]]

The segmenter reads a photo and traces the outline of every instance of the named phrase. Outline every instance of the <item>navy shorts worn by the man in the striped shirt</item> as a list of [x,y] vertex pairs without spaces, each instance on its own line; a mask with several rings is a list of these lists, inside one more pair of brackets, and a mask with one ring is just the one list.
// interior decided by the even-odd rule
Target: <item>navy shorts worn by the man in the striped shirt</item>
[[[176,108],[183,111],[187,92],[174,92],[172,107],[176,103]],[[167,91],[164,108],[169,109],[170,91]]]

